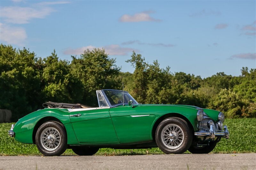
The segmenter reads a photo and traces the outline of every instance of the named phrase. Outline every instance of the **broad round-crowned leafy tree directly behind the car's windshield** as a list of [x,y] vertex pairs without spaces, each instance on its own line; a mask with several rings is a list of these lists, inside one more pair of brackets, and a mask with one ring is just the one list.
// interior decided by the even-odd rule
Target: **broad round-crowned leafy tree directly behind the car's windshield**
[[120,87],[121,83],[116,83],[120,68],[116,67],[116,60],[109,58],[104,49],[87,49],[80,58],[72,56],[72,59],[71,74],[79,78],[84,86],[83,103],[97,106],[96,90]]

